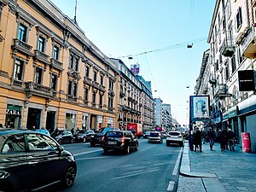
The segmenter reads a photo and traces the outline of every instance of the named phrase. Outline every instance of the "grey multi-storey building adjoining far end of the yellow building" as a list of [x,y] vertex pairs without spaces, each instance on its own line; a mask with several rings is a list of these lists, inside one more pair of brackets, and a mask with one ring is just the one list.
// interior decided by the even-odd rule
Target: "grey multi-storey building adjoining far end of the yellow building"
[[143,125],[143,131],[153,126],[153,97],[150,82],[135,75],[119,59],[111,59],[119,71],[119,127],[127,128],[127,123]]

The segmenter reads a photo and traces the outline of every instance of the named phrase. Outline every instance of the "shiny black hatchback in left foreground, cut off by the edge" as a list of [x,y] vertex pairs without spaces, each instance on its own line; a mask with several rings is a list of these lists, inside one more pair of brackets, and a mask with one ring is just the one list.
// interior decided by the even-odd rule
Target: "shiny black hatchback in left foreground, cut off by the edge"
[[77,174],[73,154],[38,131],[0,131],[0,191],[71,187]]

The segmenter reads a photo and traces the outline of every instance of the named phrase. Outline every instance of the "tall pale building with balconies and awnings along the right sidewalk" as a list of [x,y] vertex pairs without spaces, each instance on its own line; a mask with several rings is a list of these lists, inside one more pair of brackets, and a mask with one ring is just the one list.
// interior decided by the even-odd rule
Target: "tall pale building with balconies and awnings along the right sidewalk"
[[256,151],[255,17],[255,0],[216,1],[207,39],[209,56],[201,67],[201,71],[207,68],[210,72],[200,74],[199,79],[203,80],[196,82],[195,91],[211,98],[212,126],[216,130],[230,126],[238,144],[241,132],[249,132],[253,152]]

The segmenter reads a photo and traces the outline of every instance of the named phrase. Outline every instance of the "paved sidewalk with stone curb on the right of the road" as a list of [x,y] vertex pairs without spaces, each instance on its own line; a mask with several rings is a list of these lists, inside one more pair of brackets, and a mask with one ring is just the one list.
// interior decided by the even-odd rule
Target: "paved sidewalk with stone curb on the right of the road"
[[219,143],[210,150],[202,145],[202,153],[184,144],[177,192],[256,192],[256,154],[221,151]]

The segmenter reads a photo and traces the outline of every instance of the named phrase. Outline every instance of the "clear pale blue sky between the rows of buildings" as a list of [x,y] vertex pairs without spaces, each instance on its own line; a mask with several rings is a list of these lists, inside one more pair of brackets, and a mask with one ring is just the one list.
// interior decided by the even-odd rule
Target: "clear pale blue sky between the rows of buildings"
[[[74,18],[76,0],[51,2]],[[171,104],[172,117],[188,125],[189,96],[210,46],[214,5],[215,0],[77,0],[76,20],[103,54],[129,68],[139,64],[154,98]]]

